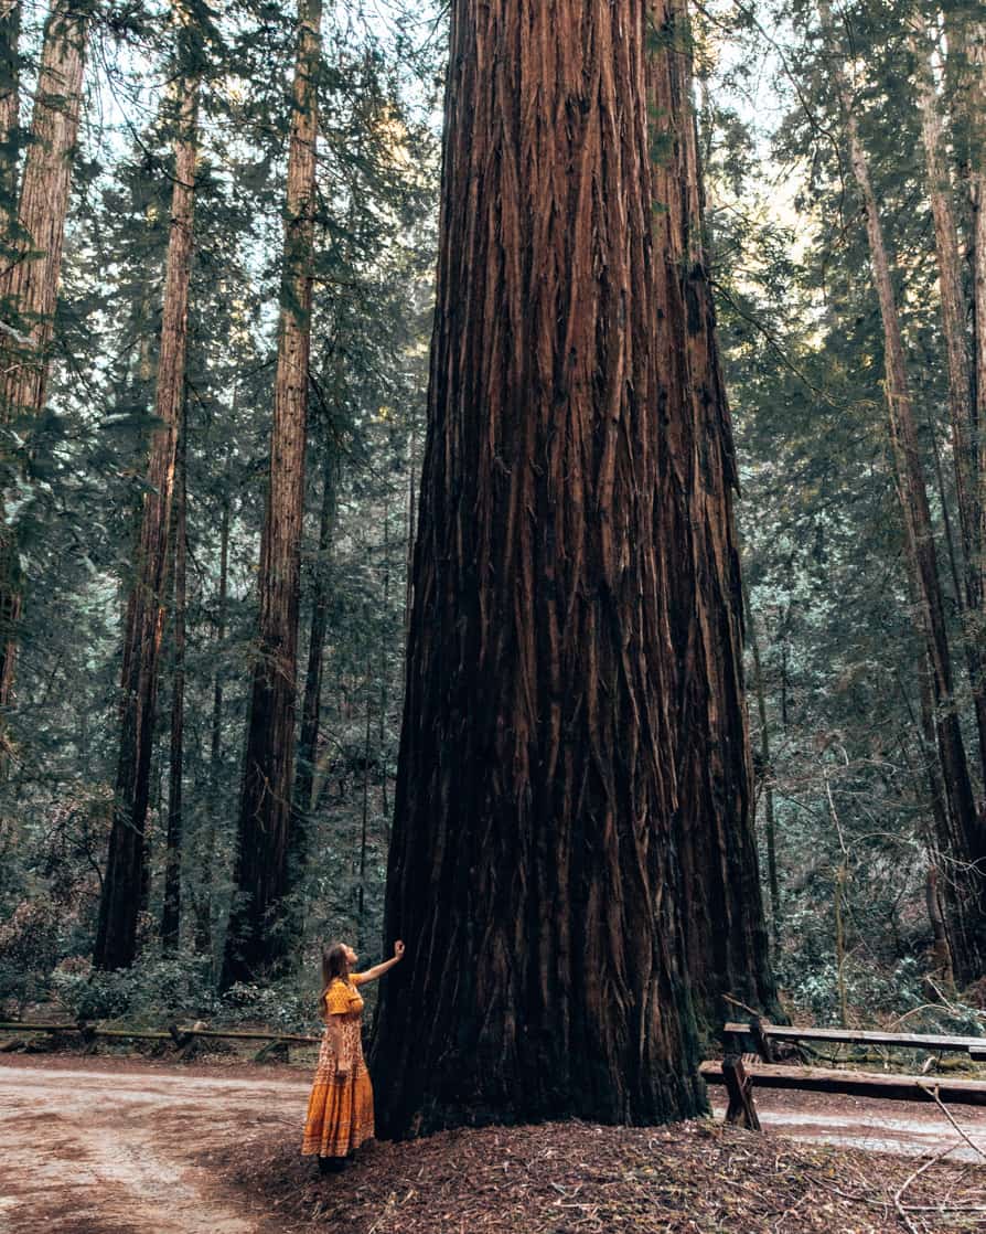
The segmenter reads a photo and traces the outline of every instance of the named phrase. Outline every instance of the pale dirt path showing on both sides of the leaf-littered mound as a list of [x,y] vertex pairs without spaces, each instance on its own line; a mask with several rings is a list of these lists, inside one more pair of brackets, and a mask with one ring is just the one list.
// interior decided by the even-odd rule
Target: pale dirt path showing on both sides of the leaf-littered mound
[[[2,1059],[0,1234],[290,1234],[197,1159],[281,1128],[297,1137],[307,1093],[286,1067]],[[908,1155],[959,1143],[956,1159],[975,1157],[934,1106],[762,1093],[758,1108],[796,1139]],[[986,1111],[958,1117],[986,1149]]]

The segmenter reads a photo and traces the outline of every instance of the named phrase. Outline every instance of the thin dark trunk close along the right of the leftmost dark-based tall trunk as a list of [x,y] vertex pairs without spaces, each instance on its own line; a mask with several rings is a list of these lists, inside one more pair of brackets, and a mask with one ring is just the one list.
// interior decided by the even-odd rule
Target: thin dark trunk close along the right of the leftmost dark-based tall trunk
[[182,408],[175,463],[174,518],[174,675],[171,686],[171,765],[168,781],[168,839],[164,859],[161,948],[176,951],[181,938],[181,777],[185,770],[185,606],[186,606],[186,475],[187,410]]

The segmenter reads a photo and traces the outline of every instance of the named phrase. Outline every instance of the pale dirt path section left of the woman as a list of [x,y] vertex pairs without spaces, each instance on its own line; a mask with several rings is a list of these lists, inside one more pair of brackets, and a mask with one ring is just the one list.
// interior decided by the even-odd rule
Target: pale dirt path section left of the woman
[[2,1234],[270,1228],[265,1214],[217,1186],[195,1157],[272,1127],[298,1135],[308,1095],[303,1076],[202,1076],[132,1065],[120,1072],[62,1061],[0,1066]]

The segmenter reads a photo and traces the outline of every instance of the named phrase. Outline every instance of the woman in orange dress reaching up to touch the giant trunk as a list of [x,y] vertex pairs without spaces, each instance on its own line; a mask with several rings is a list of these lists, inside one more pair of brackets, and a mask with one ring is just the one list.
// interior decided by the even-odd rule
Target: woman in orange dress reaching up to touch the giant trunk
[[318,1051],[301,1148],[304,1156],[318,1156],[322,1174],[341,1170],[346,1156],[372,1139],[373,1087],[362,1058],[362,998],[356,987],[382,977],[403,954],[404,944],[394,943],[392,960],[366,972],[354,972],[359,956],[351,946],[333,943],[322,953],[319,1007],[325,1035]]

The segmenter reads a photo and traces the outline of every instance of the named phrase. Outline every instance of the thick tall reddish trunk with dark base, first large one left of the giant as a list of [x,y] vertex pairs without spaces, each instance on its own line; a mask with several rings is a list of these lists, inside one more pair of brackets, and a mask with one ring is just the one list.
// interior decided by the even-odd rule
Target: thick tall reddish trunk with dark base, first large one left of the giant
[[281,927],[295,764],[320,22],[320,0],[299,0],[270,481],[260,548],[260,629],[223,987],[255,979],[282,959],[287,944]]

